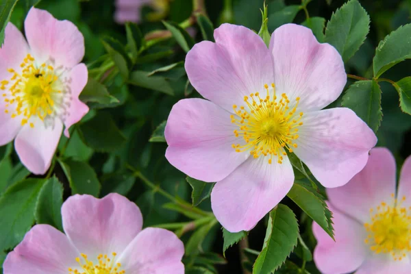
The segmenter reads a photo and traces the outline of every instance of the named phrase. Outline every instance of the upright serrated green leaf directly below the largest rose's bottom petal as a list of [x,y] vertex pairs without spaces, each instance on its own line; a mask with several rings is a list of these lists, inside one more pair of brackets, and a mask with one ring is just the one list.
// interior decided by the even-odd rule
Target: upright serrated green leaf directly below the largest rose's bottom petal
[[299,235],[295,214],[282,204],[271,210],[266,238],[253,267],[253,274],[273,273],[290,256]]

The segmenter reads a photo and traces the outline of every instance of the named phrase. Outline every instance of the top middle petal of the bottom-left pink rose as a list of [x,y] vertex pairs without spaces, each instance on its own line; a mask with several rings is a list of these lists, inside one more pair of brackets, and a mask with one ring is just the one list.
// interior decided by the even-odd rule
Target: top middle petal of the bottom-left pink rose
[[142,228],[140,209],[116,193],[103,199],[74,195],[64,202],[62,218],[67,236],[90,260],[120,254]]

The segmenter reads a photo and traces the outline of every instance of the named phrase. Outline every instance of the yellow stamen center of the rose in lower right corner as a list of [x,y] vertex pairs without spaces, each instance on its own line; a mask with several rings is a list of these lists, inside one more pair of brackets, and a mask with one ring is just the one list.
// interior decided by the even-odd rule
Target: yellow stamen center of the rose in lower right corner
[[[404,196],[401,201],[405,200]],[[377,210],[371,208],[371,223],[364,224],[369,233],[364,242],[377,254],[390,253],[394,260],[402,260],[411,251],[411,207],[401,207],[401,201],[395,199],[393,206],[382,202]]]

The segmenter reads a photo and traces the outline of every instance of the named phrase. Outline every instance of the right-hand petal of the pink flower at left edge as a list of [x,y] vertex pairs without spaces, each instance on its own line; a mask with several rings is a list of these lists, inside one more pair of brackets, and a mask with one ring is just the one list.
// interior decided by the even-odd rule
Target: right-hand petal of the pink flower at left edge
[[79,100],[79,95],[82,93],[84,87],[88,80],[88,71],[85,64],[77,64],[69,75],[71,79],[71,104],[68,110],[68,114],[64,119],[64,125],[66,129],[64,130],[64,135],[69,138],[69,128],[80,121],[84,115],[87,114],[89,108],[88,106]]

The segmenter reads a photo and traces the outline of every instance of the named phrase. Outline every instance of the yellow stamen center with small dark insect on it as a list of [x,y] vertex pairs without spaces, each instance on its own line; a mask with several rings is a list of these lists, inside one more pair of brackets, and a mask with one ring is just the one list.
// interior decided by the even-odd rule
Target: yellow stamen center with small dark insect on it
[[[38,116],[44,121],[47,116],[56,114],[56,105],[64,108],[62,101],[66,88],[53,66],[46,63],[36,66],[30,54],[27,54],[20,66],[23,69],[21,73],[8,69],[12,77],[0,82],[5,113],[12,118],[21,116],[21,125],[25,125],[32,116]],[[34,127],[33,123],[29,125]]]

